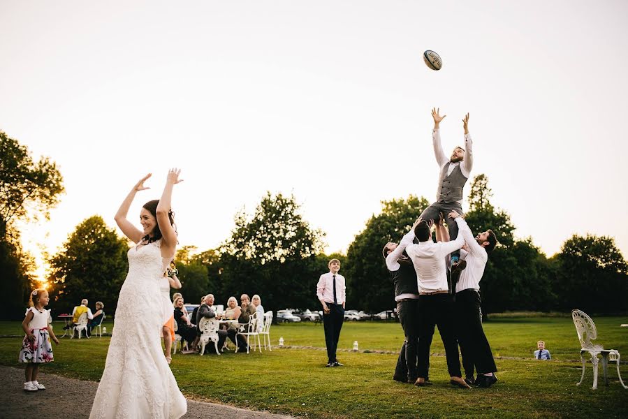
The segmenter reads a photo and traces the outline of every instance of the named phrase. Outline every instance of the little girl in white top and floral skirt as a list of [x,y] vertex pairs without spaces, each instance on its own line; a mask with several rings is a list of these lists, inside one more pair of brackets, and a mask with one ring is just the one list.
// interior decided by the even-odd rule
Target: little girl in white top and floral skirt
[[20,362],[26,362],[26,383],[24,391],[45,390],[43,384],[38,383],[37,373],[39,364],[52,362],[52,345],[50,336],[55,344],[59,344],[59,339],[54,336],[52,328],[48,325],[50,311],[44,309],[48,305],[50,297],[44,288],[37,288],[31,293],[29,298],[29,309],[26,317],[22,321],[22,329],[26,333],[22,341],[22,351],[20,351]]

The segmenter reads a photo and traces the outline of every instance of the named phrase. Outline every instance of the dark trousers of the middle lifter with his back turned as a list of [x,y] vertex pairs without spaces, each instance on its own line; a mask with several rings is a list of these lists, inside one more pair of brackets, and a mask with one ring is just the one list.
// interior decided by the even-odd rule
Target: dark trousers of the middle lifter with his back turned
[[430,346],[434,327],[441,334],[447,369],[452,377],[460,377],[458,341],[453,325],[453,301],[449,294],[420,295],[418,297],[418,376],[427,378],[430,369]]

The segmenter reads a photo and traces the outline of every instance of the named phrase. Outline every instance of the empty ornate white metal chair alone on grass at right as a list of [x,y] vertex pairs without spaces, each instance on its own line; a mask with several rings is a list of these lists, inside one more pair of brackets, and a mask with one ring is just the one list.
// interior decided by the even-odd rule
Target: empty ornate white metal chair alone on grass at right
[[592,339],[597,339],[597,329],[595,328],[595,323],[591,320],[589,316],[584,311],[573,310],[571,311],[571,318],[574,319],[574,325],[576,325],[576,332],[578,333],[578,339],[580,339],[580,360],[582,360],[582,376],[580,377],[580,382],[576,383],[576,385],[582,384],[585,379],[585,358],[584,354],[589,353],[591,355],[591,362],[593,364],[593,387],[592,390],[597,389],[597,365],[599,364],[599,359],[597,355],[601,355],[602,357],[602,369],[604,371],[604,383],[608,385],[608,361],[617,362],[617,376],[620,379],[620,383],[622,383],[622,387],[628,389],[628,387],[622,381],[622,376],[620,375],[620,353],[619,351],[615,351],[615,349],[604,349],[601,345],[593,344]]

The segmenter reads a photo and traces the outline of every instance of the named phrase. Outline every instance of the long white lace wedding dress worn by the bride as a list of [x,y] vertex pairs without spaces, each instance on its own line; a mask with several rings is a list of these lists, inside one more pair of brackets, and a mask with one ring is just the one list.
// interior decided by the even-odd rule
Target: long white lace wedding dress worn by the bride
[[161,349],[159,279],[170,260],[161,257],[160,242],[129,249],[129,274],[118,297],[105,371],[90,419],[170,419],[187,411]]

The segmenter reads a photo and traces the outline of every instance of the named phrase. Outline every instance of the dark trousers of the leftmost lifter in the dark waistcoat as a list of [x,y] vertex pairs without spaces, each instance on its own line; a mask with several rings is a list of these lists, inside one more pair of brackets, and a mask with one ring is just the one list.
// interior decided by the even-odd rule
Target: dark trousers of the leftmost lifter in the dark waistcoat
[[406,377],[408,381],[415,381],[418,374],[418,358],[416,350],[418,347],[418,300],[403,300],[397,302],[397,316],[403,328],[405,340],[395,376]]

